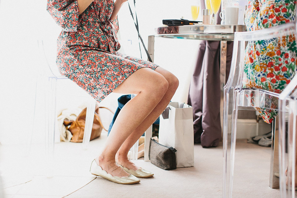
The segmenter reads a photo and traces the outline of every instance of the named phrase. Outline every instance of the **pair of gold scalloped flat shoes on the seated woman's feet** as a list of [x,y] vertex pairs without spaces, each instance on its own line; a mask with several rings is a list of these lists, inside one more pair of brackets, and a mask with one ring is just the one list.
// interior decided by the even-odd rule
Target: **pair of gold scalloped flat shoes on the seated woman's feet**
[[[119,165],[119,166],[121,166],[121,165]],[[123,166],[121,166],[121,167],[130,175],[125,176],[125,177],[112,176],[111,174],[108,174],[105,170],[102,170],[101,166],[98,166],[97,162],[94,159],[92,161],[92,164],[90,167],[90,172],[93,175],[103,177],[109,181],[112,181],[114,183],[119,183],[119,184],[138,183],[138,182],[140,182],[140,180],[137,177],[148,178],[148,177],[151,177],[154,175],[153,173],[151,173],[147,170],[144,170],[144,169],[139,169],[139,170],[135,171],[135,170],[129,170]]]

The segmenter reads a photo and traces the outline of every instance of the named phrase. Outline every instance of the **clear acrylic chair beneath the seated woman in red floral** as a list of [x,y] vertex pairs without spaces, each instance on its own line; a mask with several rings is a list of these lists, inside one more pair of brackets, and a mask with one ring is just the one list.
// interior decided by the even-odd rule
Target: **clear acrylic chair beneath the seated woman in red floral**
[[[44,71],[42,74],[37,77],[36,83],[36,95],[35,95],[35,106],[34,106],[34,118],[33,118],[33,127],[31,134],[28,135],[27,140],[27,153],[31,148],[32,144],[32,134],[34,130],[34,121],[36,118],[36,97],[37,97],[37,86],[39,83],[43,84],[45,90],[45,143],[46,143],[46,156],[47,156],[47,176],[52,177],[54,174],[54,132],[56,128],[56,88],[57,81],[69,80],[67,77],[62,75],[55,75],[51,69],[47,56],[45,54],[43,40],[38,40],[38,52],[39,52],[39,62],[45,61]],[[44,61],[42,61],[44,60]],[[38,79],[41,79],[38,80]],[[86,96],[80,96],[86,97]],[[95,114],[96,101],[91,96],[88,97],[89,102],[86,112],[86,122],[84,128],[84,137],[83,137],[83,149],[87,149],[88,143],[90,141],[92,127],[93,127],[93,118]]]

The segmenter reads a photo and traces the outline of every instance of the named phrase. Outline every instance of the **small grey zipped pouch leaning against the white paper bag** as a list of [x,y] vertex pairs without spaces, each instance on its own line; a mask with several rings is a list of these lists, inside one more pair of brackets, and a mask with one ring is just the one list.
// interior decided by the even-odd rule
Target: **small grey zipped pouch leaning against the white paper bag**
[[151,139],[149,143],[149,159],[151,163],[164,170],[176,169],[176,149],[159,144]]

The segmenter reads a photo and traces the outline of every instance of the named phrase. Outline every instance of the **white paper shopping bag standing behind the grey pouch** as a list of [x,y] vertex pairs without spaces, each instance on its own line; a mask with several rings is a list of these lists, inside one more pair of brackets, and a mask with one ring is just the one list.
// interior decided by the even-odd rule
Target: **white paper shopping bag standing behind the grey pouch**
[[193,108],[170,102],[160,116],[159,143],[177,150],[176,167],[194,166]]

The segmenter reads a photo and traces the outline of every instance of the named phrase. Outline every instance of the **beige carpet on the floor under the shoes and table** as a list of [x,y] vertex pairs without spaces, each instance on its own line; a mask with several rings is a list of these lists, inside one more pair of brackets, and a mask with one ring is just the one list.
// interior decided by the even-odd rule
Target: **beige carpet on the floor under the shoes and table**
[[[97,177],[66,197],[222,197],[222,143],[211,149],[203,149],[197,144],[194,153],[194,167],[162,170],[138,160],[140,167],[155,174],[152,178],[121,185]],[[279,197],[279,190],[269,187],[269,168],[270,148],[238,140],[233,197]]]

